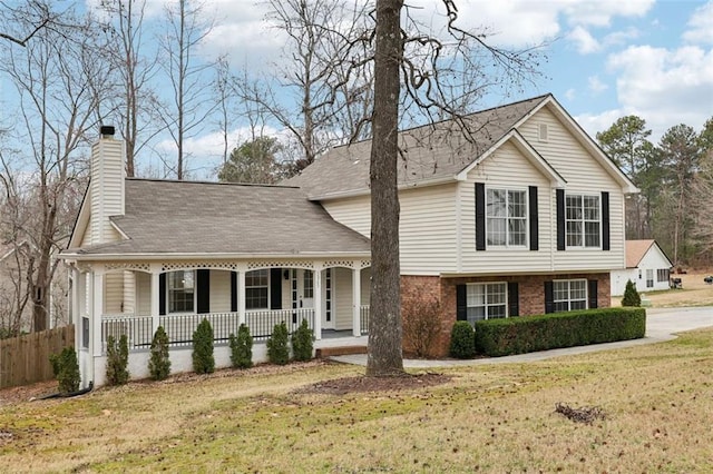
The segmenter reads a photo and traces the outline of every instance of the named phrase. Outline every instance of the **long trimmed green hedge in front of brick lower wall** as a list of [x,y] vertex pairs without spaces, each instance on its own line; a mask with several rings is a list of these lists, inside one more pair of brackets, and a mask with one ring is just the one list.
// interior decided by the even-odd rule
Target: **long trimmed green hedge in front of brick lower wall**
[[637,339],[646,309],[599,308],[476,323],[476,350],[491,357]]

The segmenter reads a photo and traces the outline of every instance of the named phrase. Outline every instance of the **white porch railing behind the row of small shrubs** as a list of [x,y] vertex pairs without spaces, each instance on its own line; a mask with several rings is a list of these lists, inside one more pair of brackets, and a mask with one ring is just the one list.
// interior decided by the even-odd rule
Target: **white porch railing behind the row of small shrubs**
[[[216,344],[227,344],[231,334],[237,335],[240,327],[237,313],[164,315],[158,318],[158,324],[164,326],[168,343],[174,347],[182,347],[193,345],[193,333],[203,318],[211,322]],[[310,308],[245,313],[245,324],[250,327],[250,334],[254,340],[266,340],[272,335],[275,325],[282,322],[285,322],[287,330],[292,334],[302,324],[302,319],[306,319],[310,329],[314,329],[314,309]],[[118,340],[124,334],[128,338],[129,350],[148,349],[154,337],[152,316],[130,314],[101,316],[102,352],[106,352],[109,336],[114,336]]]

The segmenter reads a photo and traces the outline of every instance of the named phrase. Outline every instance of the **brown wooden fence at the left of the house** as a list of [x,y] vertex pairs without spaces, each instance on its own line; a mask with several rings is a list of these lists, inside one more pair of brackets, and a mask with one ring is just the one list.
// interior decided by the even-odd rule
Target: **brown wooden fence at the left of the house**
[[74,325],[0,340],[0,388],[51,381],[49,356],[74,345]]

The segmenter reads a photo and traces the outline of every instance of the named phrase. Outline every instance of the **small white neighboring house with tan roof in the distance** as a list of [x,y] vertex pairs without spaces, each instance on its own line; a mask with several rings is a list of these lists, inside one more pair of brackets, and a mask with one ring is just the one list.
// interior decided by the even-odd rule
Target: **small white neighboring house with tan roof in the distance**
[[629,279],[636,290],[668,289],[673,264],[656,240],[626,240],[626,268],[612,271],[612,296],[622,296]]

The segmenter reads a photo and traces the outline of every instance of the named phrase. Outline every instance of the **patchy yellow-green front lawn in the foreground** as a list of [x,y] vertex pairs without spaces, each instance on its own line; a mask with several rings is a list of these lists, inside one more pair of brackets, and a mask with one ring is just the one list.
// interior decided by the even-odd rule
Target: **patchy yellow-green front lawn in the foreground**
[[[345,365],[133,383],[0,408],[13,472],[711,472],[713,330],[442,371],[408,392],[294,393]],[[560,402],[599,407],[575,423]]]

